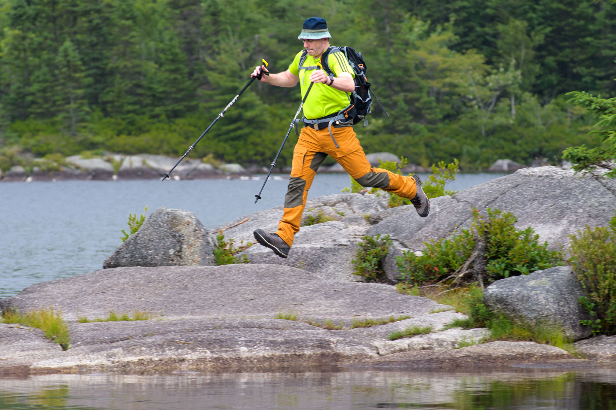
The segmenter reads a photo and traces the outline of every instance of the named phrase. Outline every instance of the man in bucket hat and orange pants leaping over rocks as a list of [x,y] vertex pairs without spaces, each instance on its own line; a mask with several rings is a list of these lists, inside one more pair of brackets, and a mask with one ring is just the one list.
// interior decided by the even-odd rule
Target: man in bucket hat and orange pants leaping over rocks
[[[306,95],[310,82],[314,83],[304,103],[304,127],[293,149],[293,165],[285,196],[285,213],[278,224],[278,231],[274,234],[262,229],[254,231],[257,242],[270,248],[281,258],[286,258],[289,254],[293,237],[299,232],[308,190],[318,167],[328,155],[342,165],[361,186],[378,187],[410,199],[419,216],[428,216],[430,211],[430,202],[421,189],[419,176],[403,176],[371,167],[353,131],[352,122],[339,122],[331,128],[328,127],[333,117],[349,108],[350,95],[355,90],[355,74],[344,53],[335,51],[327,55],[327,63],[335,76],[328,76],[323,69],[319,69],[322,67],[323,52],[330,47],[330,38],[324,18],[307,18],[298,36],[307,50],[306,60],[300,66],[304,53],[302,50],[283,73],[261,77],[261,81],[278,87],[293,87],[301,80],[302,97]],[[256,67],[251,76],[256,77],[259,70],[267,72],[265,66]]]

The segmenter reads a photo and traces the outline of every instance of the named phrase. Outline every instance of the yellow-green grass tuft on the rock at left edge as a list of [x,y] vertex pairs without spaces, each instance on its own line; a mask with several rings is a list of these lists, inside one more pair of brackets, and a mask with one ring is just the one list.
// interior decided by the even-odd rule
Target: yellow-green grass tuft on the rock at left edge
[[61,313],[55,311],[52,307],[31,310],[26,313],[7,309],[2,313],[2,320],[4,323],[20,323],[25,326],[41,329],[46,339],[59,344],[63,350],[68,350],[68,347],[70,347],[68,325],[62,319]]

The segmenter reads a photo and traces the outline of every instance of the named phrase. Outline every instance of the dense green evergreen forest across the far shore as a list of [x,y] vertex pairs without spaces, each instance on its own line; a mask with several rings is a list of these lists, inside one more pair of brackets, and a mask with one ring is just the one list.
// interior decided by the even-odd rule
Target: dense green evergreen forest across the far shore
[[[602,142],[567,93],[616,96],[605,0],[0,0],[0,154],[180,156],[261,58],[288,67],[315,15],[389,112],[355,126],[366,152],[474,171]],[[299,101],[254,82],[190,157],[269,164]]]

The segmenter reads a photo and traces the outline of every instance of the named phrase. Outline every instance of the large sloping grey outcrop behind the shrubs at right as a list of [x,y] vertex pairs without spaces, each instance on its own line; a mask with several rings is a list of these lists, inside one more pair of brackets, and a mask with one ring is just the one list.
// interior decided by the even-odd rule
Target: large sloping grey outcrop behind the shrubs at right
[[[472,208],[513,213],[516,227],[532,227],[548,248],[566,249],[569,235],[589,226],[607,226],[614,216],[616,180],[580,177],[556,167],[524,168],[452,196],[431,199],[427,218],[411,205],[374,213],[367,235],[391,235],[402,248],[421,251],[424,242],[450,237],[471,227]],[[580,204],[586,204],[582,206]],[[394,275],[395,272],[388,272]]]

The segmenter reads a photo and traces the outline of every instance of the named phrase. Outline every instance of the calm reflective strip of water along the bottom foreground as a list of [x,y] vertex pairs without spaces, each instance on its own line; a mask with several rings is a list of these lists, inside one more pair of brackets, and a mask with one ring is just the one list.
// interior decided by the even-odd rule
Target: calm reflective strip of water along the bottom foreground
[[55,374],[0,378],[0,409],[616,409],[616,372]]

